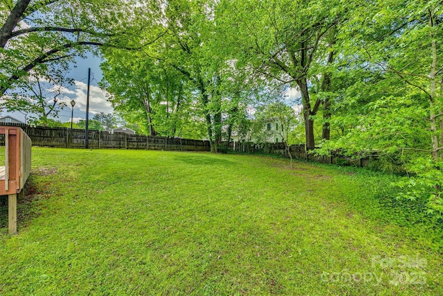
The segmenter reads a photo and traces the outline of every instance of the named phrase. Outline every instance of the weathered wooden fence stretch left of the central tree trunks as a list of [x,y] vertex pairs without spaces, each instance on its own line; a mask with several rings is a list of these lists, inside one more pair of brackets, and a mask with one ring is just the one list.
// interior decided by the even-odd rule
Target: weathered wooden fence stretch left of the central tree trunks
[[[59,148],[84,148],[84,130],[71,128],[46,128],[30,126],[19,123],[6,124],[19,126],[33,141],[34,146],[59,147]],[[4,138],[0,138],[0,145],[4,145]],[[114,149],[148,149],[148,150],[178,150],[178,151],[209,151],[209,141],[150,137],[142,134],[123,134],[89,130],[89,148],[114,148]]]

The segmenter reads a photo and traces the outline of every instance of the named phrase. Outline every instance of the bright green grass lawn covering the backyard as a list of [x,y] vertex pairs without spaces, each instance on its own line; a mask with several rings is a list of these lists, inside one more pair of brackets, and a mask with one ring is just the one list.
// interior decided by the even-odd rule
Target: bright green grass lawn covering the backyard
[[441,225],[387,198],[392,178],[248,155],[33,148],[15,236],[0,202],[0,294],[443,295]]

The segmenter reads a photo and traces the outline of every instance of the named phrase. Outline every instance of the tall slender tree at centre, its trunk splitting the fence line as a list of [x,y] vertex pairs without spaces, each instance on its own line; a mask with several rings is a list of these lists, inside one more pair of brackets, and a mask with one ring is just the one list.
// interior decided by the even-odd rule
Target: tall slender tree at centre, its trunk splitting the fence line
[[[202,5],[203,4],[203,5]],[[183,73],[199,92],[211,150],[221,142],[221,83],[224,58],[213,51],[215,2],[171,1],[163,21],[168,26],[165,61]]]

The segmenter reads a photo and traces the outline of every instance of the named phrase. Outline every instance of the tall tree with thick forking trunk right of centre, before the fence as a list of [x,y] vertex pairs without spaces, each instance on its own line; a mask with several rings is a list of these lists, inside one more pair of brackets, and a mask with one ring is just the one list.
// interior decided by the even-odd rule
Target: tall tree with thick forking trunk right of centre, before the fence
[[229,40],[242,52],[238,61],[263,77],[300,89],[306,146],[314,148],[314,116],[323,101],[311,98],[309,88],[322,74],[316,64],[332,62],[332,51],[325,55],[320,48],[327,46],[344,8],[336,1],[224,1],[221,7],[225,23],[236,32]]

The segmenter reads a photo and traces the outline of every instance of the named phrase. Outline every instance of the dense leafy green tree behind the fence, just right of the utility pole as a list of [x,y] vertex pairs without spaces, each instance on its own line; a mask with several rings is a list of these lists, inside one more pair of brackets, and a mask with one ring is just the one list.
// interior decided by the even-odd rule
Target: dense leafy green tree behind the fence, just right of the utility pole
[[190,105],[195,95],[188,78],[145,51],[107,49],[104,54],[101,85],[111,93],[114,108],[127,121],[145,125],[152,136],[179,136],[186,114],[193,113]]

